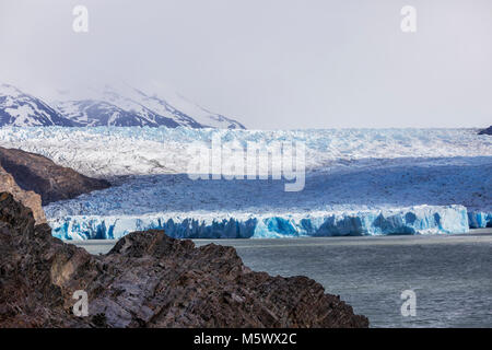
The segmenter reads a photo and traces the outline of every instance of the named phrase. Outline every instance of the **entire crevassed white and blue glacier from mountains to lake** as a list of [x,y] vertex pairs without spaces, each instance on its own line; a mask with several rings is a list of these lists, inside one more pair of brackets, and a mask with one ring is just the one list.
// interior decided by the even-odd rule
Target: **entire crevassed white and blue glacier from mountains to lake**
[[[190,179],[191,145],[214,137],[236,148],[303,142],[304,189]],[[492,223],[492,138],[473,129],[4,128],[0,145],[115,184],[45,208],[65,238],[147,229],[178,237],[464,233]]]

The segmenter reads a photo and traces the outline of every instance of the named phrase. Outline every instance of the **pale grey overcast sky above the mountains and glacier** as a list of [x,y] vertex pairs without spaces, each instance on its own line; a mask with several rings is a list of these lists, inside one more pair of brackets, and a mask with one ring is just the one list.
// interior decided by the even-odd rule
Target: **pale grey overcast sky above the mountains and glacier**
[[[72,31],[77,4],[89,33]],[[105,77],[165,82],[251,129],[484,127],[492,1],[0,0],[0,81]]]

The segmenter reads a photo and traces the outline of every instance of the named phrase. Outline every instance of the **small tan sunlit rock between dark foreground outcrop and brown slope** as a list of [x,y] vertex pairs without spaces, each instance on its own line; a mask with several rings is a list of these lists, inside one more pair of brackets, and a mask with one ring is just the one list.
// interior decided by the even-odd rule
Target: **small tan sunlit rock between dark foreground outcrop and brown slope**
[[0,192],[5,191],[13,195],[15,200],[22,202],[33,211],[37,224],[45,223],[45,212],[42,208],[40,196],[32,190],[23,190],[17,186],[12,175],[7,173],[0,165]]

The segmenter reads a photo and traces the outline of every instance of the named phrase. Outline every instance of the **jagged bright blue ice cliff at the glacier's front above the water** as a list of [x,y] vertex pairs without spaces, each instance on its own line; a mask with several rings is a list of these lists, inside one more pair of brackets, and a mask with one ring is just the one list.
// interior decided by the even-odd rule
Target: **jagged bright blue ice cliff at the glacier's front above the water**
[[419,206],[394,210],[311,215],[66,217],[50,219],[55,236],[65,240],[119,238],[133,231],[165,230],[178,238],[278,238],[387,234],[440,234],[469,231],[462,206]]

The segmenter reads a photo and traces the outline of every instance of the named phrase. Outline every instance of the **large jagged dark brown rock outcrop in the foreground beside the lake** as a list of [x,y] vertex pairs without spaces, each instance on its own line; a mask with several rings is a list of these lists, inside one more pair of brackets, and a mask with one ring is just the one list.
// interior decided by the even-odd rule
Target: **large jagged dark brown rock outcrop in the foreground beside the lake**
[[[89,294],[89,316],[71,313]],[[0,327],[367,327],[306,277],[253,272],[232,247],[136,232],[104,256],[65,244],[0,194]]]

